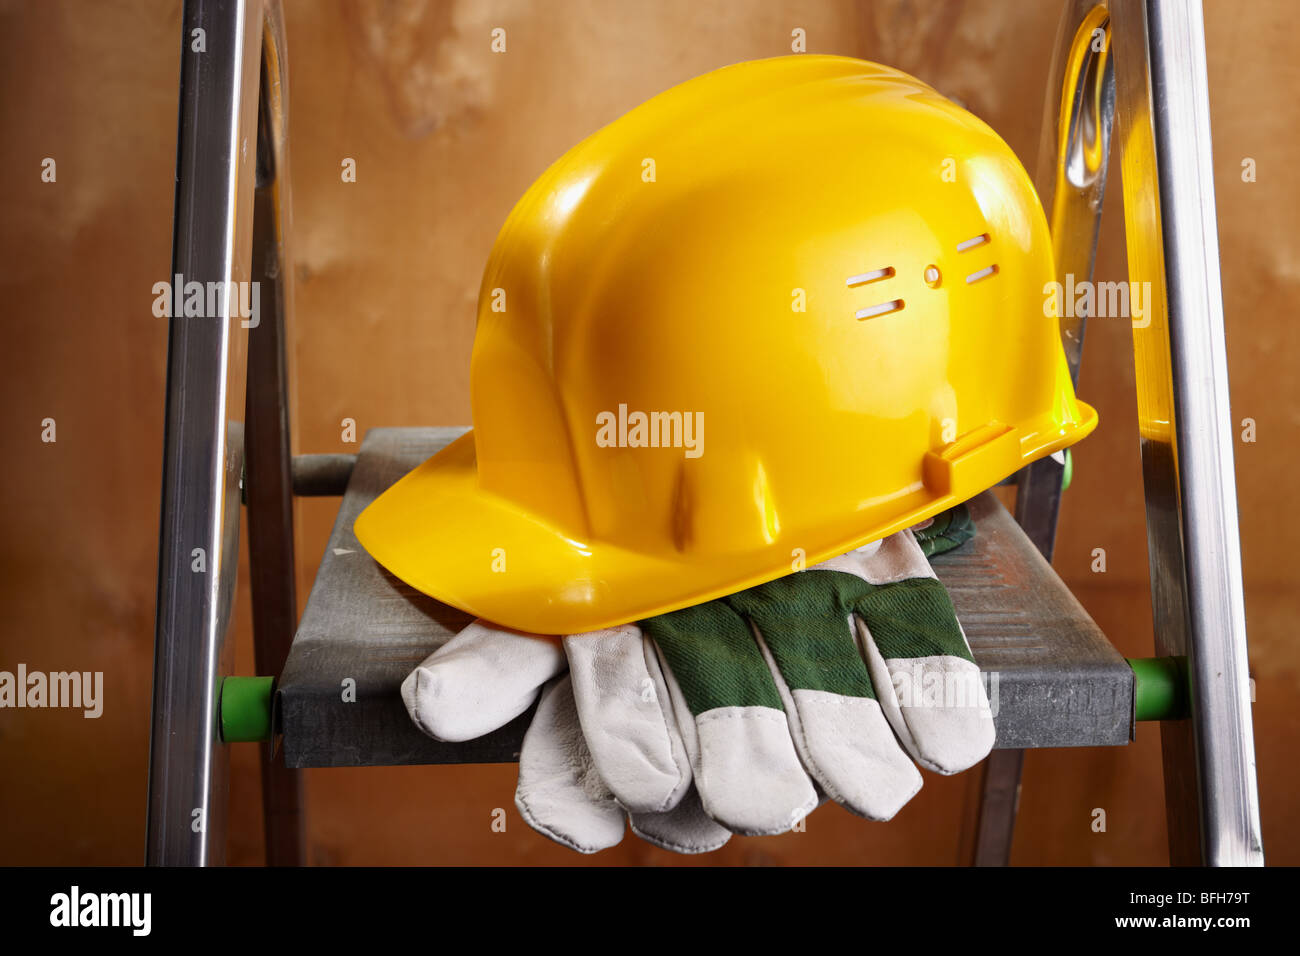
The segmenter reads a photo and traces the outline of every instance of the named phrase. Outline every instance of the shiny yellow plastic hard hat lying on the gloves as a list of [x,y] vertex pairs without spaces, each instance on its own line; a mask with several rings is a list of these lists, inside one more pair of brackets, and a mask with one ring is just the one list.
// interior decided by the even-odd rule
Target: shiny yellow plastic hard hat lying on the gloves
[[1011,150],[898,70],[744,62],[524,194],[478,297],[473,431],[358,538],[474,615],[577,633],[772,580],[1088,434]]

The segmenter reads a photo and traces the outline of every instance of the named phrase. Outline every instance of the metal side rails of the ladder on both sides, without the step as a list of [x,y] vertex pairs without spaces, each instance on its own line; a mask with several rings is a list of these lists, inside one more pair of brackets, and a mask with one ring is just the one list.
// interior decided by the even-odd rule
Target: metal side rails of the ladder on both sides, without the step
[[[280,0],[186,0],[182,22],[172,272],[257,281],[272,306],[250,329],[238,317],[181,316],[169,328],[147,861],[207,865],[225,852],[220,704],[240,493],[256,666],[278,674],[298,617],[295,476],[312,479],[290,453]],[[1066,3],[1039,174],[1062,277],[1092,276],[1117,101],[1130,280],[1152,285],[1152,321],[1134,329],[1134,346],[1156,646],[1186,662],[1192,702],[1190,719],[1161,727],[1170,860],[1261,864],[1199,0]],[[1062,320],[1075,376],[1083,333],[1082,317]],[[1037,462],[1018,485],[1017,519],[1050,557],[1061,466]],[[300,862],[300,782],[263,748],[268,862]],[[976,862],[1008,860],[1022,756],[988,761]]]

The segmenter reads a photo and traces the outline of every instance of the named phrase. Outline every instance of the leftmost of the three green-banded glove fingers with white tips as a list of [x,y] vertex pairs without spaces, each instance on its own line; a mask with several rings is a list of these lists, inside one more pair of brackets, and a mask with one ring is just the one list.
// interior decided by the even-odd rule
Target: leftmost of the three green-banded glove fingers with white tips
[[749,626],[722,601],[641,622],[710,817],[732,832],[780,834],[816,806],[781,698]]

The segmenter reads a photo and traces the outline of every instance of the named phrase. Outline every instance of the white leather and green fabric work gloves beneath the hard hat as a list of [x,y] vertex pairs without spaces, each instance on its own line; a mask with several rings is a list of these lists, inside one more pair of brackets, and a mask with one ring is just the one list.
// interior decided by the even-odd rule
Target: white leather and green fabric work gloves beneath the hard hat
[[[407,678],[439,740],[488,734],[541,697],[515,803],[581,852],[627,821],[655,845],[716,849],[792,829],[829,797],[889,819],[913,761],[965,770],[993,721],[926,559],[972,533],[965,509],[805,571],[638,624],[542,637],[476,620]],[[567,671],[567,672],[566,672]]]

